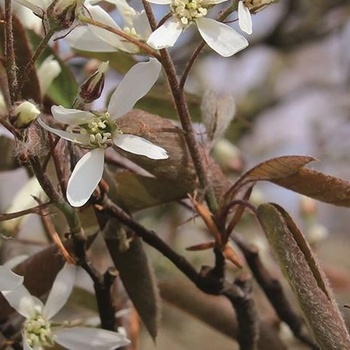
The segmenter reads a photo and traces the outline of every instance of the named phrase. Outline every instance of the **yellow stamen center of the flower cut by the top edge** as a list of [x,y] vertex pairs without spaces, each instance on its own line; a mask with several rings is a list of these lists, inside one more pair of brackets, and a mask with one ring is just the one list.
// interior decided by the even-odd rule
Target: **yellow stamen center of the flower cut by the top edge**
[[197,18],[204,17],[208,13],[205,0],[173,0],[171,11],[177,16],[184,26],[194,22]]

